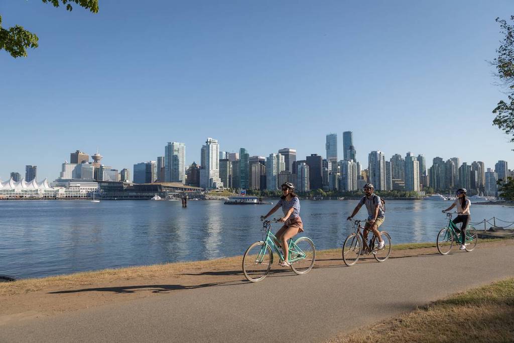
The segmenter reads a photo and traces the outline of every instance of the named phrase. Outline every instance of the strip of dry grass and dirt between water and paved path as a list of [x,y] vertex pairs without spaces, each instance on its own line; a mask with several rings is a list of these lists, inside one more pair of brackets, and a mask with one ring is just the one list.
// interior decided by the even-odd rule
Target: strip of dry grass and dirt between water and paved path
[[[391,259],[438,255],[432,243],[394,246]],[[514,245],[514,240],[481,242],[477,249]],[[467,252],[454,251],[454,254]],[[472,254],[472,252],[471,252]],[[278,260],[278,259],[277,259]],[[105,304],[157,296],[160,293],[182,292],[201,287],[246,283],[242,257],[212,261],[169,263],[98,272],[77,273],[42,279],[24,279],[0,283],[0,326],[7,322],[51,316],[69,311],[94,308]],[[361,263],[376,263],[366,256]],[[318,251],[314,268],[345,267],[341,249]],[[292,273],[275,264],[271,273]],[[265,282],[265,281],[264,281]]]

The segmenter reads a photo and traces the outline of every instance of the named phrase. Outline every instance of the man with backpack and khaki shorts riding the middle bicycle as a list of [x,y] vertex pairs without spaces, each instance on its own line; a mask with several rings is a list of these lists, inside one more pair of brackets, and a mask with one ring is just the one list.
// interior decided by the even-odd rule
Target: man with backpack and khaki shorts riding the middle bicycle
[[[374,193],[375,187],[373,184],[364,185],[364,195],[360,202],[355,207],[352,215],[350,215],[347,220],[352,220],[354,215],[359,212],[362,205],[366,205],[366,209],[368,209],[368,220],[366,220],[366,224],[364,225],[364,231],[362,232],[362,236],[364,238],[364,247],[365,250],[368,247],[368,231],[372,231],[376,237],[378,237],[378,249],[384,248],[384,241],[382,236],[380,235],[380,231],[378,231],[378,227],[383,224],[385,219],[385,213],[382,206],[382,202],[380,200],[380,196]],[[364,251],[365,252],[365,251]]]

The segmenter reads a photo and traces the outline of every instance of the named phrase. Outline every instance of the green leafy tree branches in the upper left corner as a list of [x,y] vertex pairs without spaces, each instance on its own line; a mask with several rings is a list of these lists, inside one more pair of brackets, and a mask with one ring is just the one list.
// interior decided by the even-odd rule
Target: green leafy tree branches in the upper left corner
[[[73,9],[72,4],[77,4],[92,13],[98,13],[98,0],[41,0],[50,3],[54,7],[66,6],[67,11]],[[12,57],[26,57],[27,48],[37,48],[39,38],[34,33],[26,30],[23,26],[15,25],[7,29],[2,27],[2,16],[0,15],[0,50],[4,49]]]

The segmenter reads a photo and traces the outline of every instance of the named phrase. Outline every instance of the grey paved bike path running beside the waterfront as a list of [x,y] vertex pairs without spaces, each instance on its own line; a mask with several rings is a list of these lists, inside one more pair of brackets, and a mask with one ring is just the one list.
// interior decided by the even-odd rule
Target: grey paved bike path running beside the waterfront
[[156,297],[6,324],[0,342],[320,341],[512,276],[511,245],[479,246],[448,256],[318,267],[303,276],[274,273],[259,283],[162,291]]

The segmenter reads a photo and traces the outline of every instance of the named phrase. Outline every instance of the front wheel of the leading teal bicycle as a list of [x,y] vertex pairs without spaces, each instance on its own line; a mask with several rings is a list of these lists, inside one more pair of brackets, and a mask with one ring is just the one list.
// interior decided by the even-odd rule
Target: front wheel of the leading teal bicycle
[[268,275],[273,263],[273,253],[268,246],[263,251],[264,242],[255,242],[248,247],[243,255],[243,273],[251,282],[261,281]]

